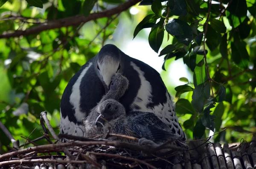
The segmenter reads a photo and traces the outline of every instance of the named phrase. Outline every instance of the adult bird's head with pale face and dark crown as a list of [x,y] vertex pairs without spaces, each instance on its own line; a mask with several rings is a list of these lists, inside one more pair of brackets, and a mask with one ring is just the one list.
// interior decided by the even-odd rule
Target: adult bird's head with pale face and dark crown
[[108,44],[103,46],[97,55],[95,69],[105,91],[108,92],[113,75],[122,74],[124,64],[121,60],[121,52],[115,45]]

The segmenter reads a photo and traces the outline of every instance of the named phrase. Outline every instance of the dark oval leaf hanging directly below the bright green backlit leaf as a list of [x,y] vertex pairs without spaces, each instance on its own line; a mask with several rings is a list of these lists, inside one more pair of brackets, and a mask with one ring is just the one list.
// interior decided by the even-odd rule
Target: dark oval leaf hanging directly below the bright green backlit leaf
[[198,85],[193,90],[192,105],[199,112],[204,110],[204,83]]

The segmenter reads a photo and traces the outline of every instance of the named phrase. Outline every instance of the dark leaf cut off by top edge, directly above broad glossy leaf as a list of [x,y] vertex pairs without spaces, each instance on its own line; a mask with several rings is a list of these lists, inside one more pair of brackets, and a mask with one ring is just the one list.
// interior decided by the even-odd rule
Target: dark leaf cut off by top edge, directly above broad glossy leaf
[[168,0],[169,8],[172,14],[176,16],[186,16],[186,2],[185,0]]

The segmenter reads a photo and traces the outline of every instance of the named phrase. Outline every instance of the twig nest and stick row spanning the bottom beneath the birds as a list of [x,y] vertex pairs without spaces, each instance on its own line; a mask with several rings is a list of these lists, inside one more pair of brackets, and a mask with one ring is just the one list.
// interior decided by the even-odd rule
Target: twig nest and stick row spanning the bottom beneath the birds
[[[44,125],[46,123],[55,143]],[[250,143],[243,142],[238,148],[220,143],[201,143],[199,146],[185,149],[164,143],[150,148],[137,143],[84,138],[70,135],[56,135],[47,119],[46,112],[41,113],[41,125],[49,144],[38,146],[35,140],[28,140],[34,146],[26,149],[12,148],[11,152],[0,155],[1,168],[88,168],[88,169],[253,169],[256,168],[256,137]],[[109,135],[111,135],[109,133]],[[113,135],[111,135],[113,136]],[[126,139],[135,139],[124,135],[114,135]],[[59,138],[72,139],[62,143]],[[39,139],[37,139],[39,140]],[[170,140],[173,142],[175,140]],[[191,141],[193,142],[193,141]],[[165,153],[161,149],[167,149]],[[176,159],[176,160],[174,160]]]

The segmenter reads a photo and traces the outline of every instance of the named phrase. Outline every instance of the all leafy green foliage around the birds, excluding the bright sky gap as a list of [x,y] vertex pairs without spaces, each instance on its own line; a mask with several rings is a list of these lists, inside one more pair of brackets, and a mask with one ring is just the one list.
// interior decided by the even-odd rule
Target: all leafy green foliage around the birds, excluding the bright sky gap
[[[95,56],[106,40],[113,38],[119,14],[102,16],[85,25],[81,22],[78,27],[60,25],[38,34],[30,32],[55,20],[76,15],[90,17],[90,13],[123,2],[0,0],[0,120],[15,138],[29,136],[35,127],[40,130],[39,115],[45,110],[58,133],[59,104],[65,86],[80,66]],[[183,77],[180,81],[184,84],[175,86],[176,112],[188,138],[207,137],[208,129],[219,132],[229,127],[215,141],[233,142],[241,137],[250,140],[246,133],[255,132],[255,3],[255,0],[140,3],[151,5],[151,9],[137,24],[133,38],[150,28],[148,42],[159,56],[165,55],[163,69],[175,58],[182,59],[193,73],[193,82]],[[129,11],[123,13],[131,17]],[[26,35],[3,39],[6,33],[18,31]],[[12,112],[21,109],[21,103],[28,103],[29,111],[13,115]],[[242,134],[232,136],[236,131]],[[2,131],[0,135],[6,151],[10,141]],[[41,133],[35,132],[29,139],[39,136]]]

